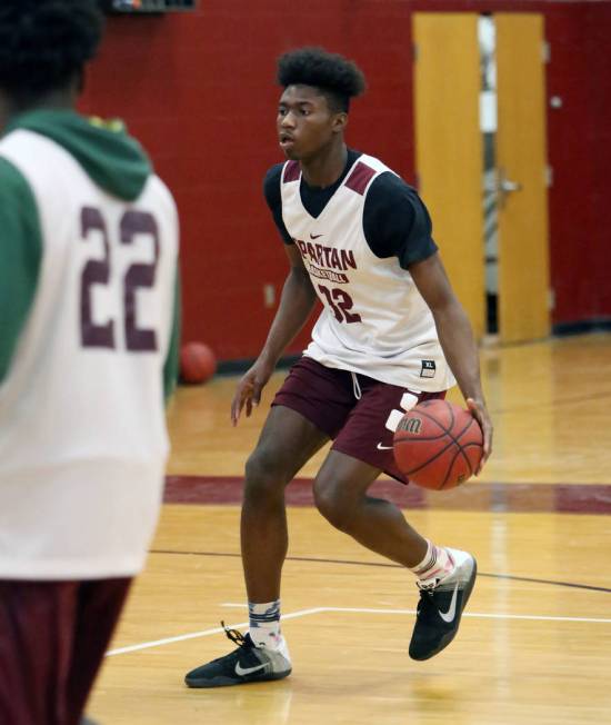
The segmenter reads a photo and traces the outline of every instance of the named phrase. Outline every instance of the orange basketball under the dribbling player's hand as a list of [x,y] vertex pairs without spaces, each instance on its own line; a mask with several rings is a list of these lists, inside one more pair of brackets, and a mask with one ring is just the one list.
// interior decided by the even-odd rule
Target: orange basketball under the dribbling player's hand
[[469,410],[425,400],[407,413],[394,433],[394,460],[411,481],[433,490],[463,484],[483,455],[481,428]]

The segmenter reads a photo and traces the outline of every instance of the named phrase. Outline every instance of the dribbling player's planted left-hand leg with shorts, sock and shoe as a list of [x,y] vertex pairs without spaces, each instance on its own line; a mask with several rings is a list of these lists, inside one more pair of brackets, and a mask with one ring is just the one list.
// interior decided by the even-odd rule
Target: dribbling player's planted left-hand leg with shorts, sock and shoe
[[284,488],[337,435],[354,403],[348,374],[309,358],[291,368],[247,464],[241,538],[249,633],[228,630],[238,649],[190,672],[190,687],[278,679],[291,672],[280,632],[280,574],[288,547]]

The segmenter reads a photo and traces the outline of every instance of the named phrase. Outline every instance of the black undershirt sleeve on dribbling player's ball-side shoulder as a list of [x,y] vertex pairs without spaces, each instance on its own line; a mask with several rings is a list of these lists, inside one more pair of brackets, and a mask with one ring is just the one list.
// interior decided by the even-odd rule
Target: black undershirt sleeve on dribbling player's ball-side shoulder
[[369,189],[363,230],[377,257],[398,257],[403,269],[438,249],[427,207],[414,189],[390,171],[381,173]]

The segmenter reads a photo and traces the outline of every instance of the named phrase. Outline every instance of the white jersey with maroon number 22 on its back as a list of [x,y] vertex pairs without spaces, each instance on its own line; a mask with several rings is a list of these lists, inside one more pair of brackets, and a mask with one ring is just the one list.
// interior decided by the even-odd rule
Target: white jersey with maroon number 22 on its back
[[130,203],[61,146],[0,142],[30,186],[42,259],[0,386],[0,578],[130,576],[157,523],[168,453],[162,368],[178,219],[151,175]]

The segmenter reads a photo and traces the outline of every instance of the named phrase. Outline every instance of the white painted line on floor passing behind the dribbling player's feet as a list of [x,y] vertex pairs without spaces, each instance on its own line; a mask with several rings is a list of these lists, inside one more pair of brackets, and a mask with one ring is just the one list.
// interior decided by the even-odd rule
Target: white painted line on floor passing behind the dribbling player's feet
[[[226,602],[221,604],[228,608],[244,609],[246,605]],[[415,614],[414,609],[372,609],[364,607],[313,607],[312,609],[300,609],[290,614],[283,614],[282,619],[296,619],[297,617],[307,617],[311,614],[321,614],[323,612],[343,612],[347,614]],[[475,619],[523,619],[530,622],[584,622],[590,624],[611,624],[611,618],[597,618],[597,617],[553,617],[544,615],[530,615],[530,614],[487,614],[465,612],[463,617],[472,617]],[[239,622],[237,624],[228,625],[230,629],[239,627],[248,627],[248,622]],[[201,632],[191,632],[184,635],[177,635],[176,637],[166,637],[164,639],[153,639],[152,642],[142,642],[139,645],[130,645],[128,647],[119,647],[118,649],[110,649],[107,652],[107,657],[114,655],[124,655],[129,652],[138,652],[139,649],[149,649],[150,647],[161,647],[174,642],[184,642],[186,639],[197,639],[198,637],[209,637],[213,634],[223,632],[222,627],[213,627],[212,629],[202,629]]]

